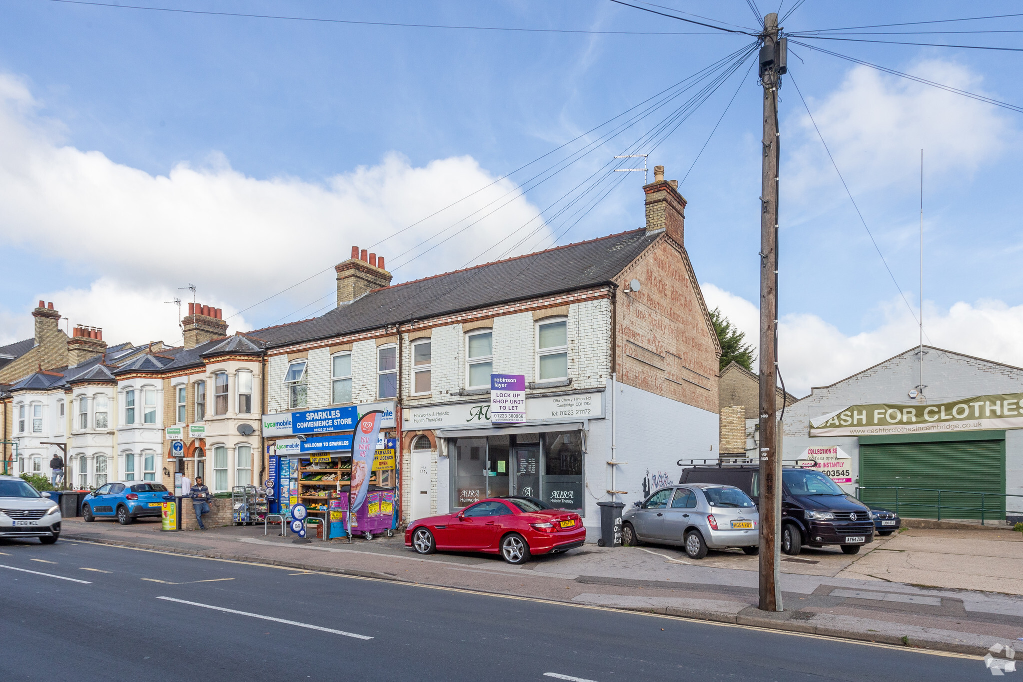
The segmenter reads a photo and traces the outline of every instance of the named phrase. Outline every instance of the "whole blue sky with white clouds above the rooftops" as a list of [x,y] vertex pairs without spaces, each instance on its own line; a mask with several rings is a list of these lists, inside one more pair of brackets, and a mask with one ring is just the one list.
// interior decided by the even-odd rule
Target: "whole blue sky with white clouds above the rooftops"
[[[0,345],[32,336],[39,300],[112,343],[175,344],[176,298],[222,308],[229,331],[322,314],[352,245],[385,256],[399,282],[635,229],[644,174],[612,169],[643,158],[614,158],[625,153],[679,180],[704,295],[755,343],[761,95],[752,53],[739,60],[749,36],[609,0],[133,4],[221,14],[0,0]],[[634,4],[757,27],[740,0]],[[1017,7],[805,2],[783,28]],[[1018,48],[1020,34],[990,33],[1014,30],[1023,16],[793,40],[1019,106],[1023,52],[856,42]],[[864,35],[882,32],[913,33]],[[924,340],[1023,365],[1023,113],[795,42],[789,69],[779,336],[790,392],[918,342],[921,149]]]

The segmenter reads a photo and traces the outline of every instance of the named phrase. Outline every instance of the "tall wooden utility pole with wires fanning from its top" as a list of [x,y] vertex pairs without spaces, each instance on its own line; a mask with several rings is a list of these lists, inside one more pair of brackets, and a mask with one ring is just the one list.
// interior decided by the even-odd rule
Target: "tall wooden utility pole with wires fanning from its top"
[[777,385],[777,88],[786,71],[777,14],[764,16],[760,35],[763,85],[763,175],[760,188],[760,608],[782,610],[779,541],[782,537],[782,454],[774,418]]

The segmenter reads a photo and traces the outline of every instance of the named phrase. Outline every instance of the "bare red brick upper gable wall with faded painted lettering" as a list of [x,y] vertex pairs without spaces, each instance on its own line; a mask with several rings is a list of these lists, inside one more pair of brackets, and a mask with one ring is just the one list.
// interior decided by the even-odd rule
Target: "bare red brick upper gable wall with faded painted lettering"
[[[687,259],[662,237],[622,271],[615,370],[619,381],[717,413],[720,351]],[[623,292],[633,278],[639,290]]]

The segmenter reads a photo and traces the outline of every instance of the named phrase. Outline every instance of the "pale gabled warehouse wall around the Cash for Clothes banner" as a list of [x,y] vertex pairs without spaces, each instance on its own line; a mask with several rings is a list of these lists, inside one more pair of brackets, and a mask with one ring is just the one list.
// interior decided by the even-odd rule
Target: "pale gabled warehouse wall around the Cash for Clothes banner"
[[[989,360],[924,347],[923,378],[927,403],[943,403],[985,394],[1023,393],[1023,369]],[[784,459],[796,459],[808,447],[838,446],[852,456],[854,484],[842,486],[855,492],[859,481],[859,439],[810,438],[809,423],[813,417],[835,412],[849,405],[893,403],[919,405],[909,398],[909,391],[920,383],[920,361],[917,349],[871,367],[837,383],[813,389],[812,393],[786,408],[782,441]],[[1023,430],[1006,431],[1006,492],[1023,494]],[[1023,501],[1009,498],[1009,509],[1023,508]],[[1015,505],[1015,506],[1014,506]]]

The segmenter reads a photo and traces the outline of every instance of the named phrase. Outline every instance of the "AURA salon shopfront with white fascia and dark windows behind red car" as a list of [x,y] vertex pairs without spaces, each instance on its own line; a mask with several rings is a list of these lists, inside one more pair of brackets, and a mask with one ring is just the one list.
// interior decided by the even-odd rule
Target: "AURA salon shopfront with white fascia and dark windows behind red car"
[[[405,408],[402,429],[430,430],[438,454],[434,486],[416,481],[413,464],[412,497],[432,487],[437,513],[448,513],[486,497],[523,495],[595,520],[609,459],[592,454],[608,421],[604,393],[528,398],[526,415],[520,424],[493,424],[487,402]],[[410,440],[414,459],[416,437]],[[602,487],[589,498],[588,478]]]

